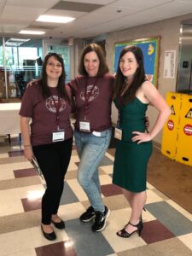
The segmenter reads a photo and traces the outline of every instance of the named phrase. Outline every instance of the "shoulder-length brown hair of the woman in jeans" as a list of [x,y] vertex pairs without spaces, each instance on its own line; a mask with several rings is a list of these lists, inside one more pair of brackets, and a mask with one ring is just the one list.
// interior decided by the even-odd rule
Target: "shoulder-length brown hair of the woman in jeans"
[[102,76],[105,73],[108,73],[109,69],[108,69],[108,65],[106,63],[105,60],[105,55],[103,53],[102,47],[98,44],[87,44],[81,54],[80,57],[80,61],[79,61],[79,74],[88,77],[89,74],[86,72],[86,69],[84,67],[84,56],[88,53],[90,53],[91,51],[95,51],[96,55],[98,56],[99,59],[99,69],[98,69],[98,73],[96,74],[96,76]]

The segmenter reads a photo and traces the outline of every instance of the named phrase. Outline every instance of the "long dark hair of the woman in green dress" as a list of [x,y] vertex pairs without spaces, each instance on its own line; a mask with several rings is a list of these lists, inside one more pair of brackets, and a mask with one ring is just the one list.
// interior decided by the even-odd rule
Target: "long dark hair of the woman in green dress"
[[130,84],[129,88],[125,91],[124,95],[121,96],[121,102],[123,105],[125,105],[127,102],[132,102],[134,100],[138,88],[146,80],[142,49],[137,47],[136,45],[125,46],[125,48],[121,50],[119,55],[118,69],[117,69],[116,78],[114,82],[114,98],[118,98],[120,96],[123,90],[123,87],[125,85],[126,77],[121,72],[119,63],[120,63],[120,59],[127,52],[132,52],[133,55],[135,55],[138,67],[132,83]]

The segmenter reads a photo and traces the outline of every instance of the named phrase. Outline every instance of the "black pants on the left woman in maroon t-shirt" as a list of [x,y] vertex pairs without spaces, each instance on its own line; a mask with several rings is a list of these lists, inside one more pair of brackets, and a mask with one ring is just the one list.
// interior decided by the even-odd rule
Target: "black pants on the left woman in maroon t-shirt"
[[32,147],[47,185],[42,198],[42,224],[50,224],[51,215],[58,211],[72,147],[73,137],[63,142]]

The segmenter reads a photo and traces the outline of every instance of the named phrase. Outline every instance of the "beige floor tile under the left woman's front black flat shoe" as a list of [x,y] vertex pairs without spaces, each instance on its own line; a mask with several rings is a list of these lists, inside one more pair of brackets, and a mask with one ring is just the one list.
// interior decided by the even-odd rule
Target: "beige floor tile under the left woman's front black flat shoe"
[[[44,238],[40,225],[38,227],[29,229],[29,231],[30,231],[30,235],[32,236],[32,244],[34,244],[34,247],[43,247],[45,245],[55,243],[55,241],[49,241],[46,238]],[[56,242],[66,241],[68,239],[68,236],[65,230],[55,229],[55,233],[57,236]]]

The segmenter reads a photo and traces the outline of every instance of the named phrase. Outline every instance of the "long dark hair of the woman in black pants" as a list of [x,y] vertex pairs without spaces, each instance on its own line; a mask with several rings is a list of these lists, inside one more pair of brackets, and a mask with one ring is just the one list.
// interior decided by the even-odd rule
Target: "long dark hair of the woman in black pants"
[[65,88],[66,72],[65,72],[63,59],[61,58],[61,55],[58,55],[55,52],[49,53],[48,55],[46,55],[44,57],[44,64],[42,67],[41,79],[39,79],[39,81],[38,81],[42,88],[42,95],[44,98],[46,98],[50,95],[49,94],[49,86],[48,86],[48,77],[47,77],[47,73],[46,73],[46,67],[47,67],[50,57],[54,57],[57,61],[59,61],[61,63],[61,67],[62,67],[62,73],[61,73],[61,76],[59,77],[58,84],[57,84],[58,94],[61,98],[64,98],[65,100],[70,102],[69,96],[67,95],[67,90]]

